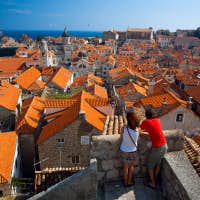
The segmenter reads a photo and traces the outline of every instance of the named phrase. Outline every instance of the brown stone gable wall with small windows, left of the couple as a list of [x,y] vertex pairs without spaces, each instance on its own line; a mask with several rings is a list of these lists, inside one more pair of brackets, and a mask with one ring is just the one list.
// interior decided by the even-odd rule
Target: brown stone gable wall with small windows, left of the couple
[[85,114],[79,114],[65,129],[38,144],[41,170],[88,166],[91,136],[98,134],[100,131],[85,120]]

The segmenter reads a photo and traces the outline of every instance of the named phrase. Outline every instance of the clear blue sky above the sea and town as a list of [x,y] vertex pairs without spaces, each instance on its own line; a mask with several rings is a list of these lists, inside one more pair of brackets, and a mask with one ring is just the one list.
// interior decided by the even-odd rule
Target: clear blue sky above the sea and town
[[200,0],[0,0],[0,29],[196,29]]

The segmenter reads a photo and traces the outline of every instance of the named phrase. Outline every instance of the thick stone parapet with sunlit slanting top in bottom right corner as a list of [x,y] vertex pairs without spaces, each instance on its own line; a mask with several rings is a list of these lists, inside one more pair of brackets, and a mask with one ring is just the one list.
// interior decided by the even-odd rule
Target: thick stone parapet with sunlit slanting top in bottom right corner
[[184,151],[166,154],[161,180],[166,199],[196,200],[200,197],[200,178]]

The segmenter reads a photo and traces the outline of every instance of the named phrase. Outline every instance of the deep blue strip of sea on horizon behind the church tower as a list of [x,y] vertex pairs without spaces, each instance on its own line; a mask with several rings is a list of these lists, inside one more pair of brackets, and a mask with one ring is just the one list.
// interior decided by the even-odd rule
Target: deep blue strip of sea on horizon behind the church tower
[[[32,39],[36,40],[38,35],[41,35],[42,37],[46,36],[52,36],[52,37],[59,37],[62,35],[63,30],[2,30],[3,35],[7,37],[13,37],[16,40],[19,40],[22,34],[26,34]],[[102,31],[68,31],[70,36],[75,37],[102,37],[103,32]],[[2,37],[1,36],[1,37]],[[0,37],[0,38],[1,38]]]

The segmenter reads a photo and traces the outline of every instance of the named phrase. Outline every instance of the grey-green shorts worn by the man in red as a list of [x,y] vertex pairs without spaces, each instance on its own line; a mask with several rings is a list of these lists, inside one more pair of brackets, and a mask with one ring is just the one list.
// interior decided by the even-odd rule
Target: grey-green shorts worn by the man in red
[[162,145],[161,147],[152,147],[150,155],[148,157],[147,167],[148,169],[154,169],[154,167],[161,164],[161,161],[167,152],[167,144]]

